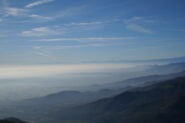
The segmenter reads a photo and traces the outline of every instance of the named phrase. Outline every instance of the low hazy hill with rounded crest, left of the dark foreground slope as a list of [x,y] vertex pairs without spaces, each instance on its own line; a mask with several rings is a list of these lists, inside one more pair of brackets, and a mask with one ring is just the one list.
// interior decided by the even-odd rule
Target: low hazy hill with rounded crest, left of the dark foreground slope
[[46,119],[45,114],[58,109],[90,103],[118,93],[121,93],[121,90],[103,89],[95,92],[61,91],[48,96],[10,104],[4,109],[6,114],[3,117],[15,116],[35,122],[35,119]]

